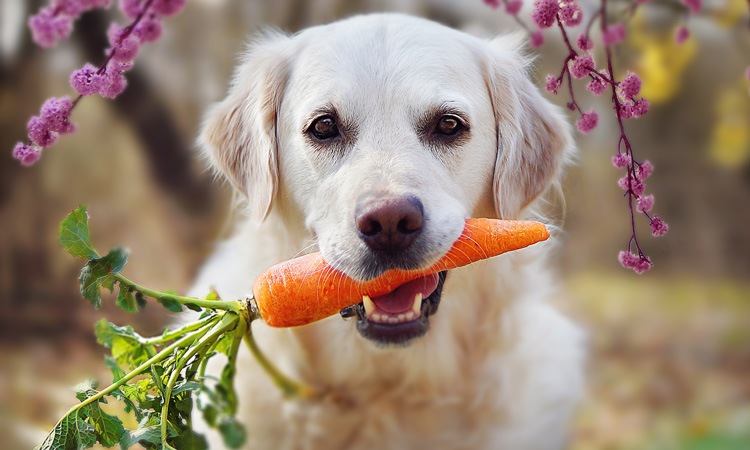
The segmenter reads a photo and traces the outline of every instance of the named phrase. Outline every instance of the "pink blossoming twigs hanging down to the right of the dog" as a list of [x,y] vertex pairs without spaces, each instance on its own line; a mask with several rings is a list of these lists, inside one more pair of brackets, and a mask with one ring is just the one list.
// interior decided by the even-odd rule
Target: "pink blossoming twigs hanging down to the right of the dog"
[[[485,3],[493,8],[499,7],[499,0],[484,0]],[[507,0],[502,0],[506,5],[508,12]],[[563,60],[560,73],[546,76],[546,90],[557,94],[563,82],[567,84],[567,92],[570,101],[567,103],[568,109],[577,111],[580,115],[576,126],[583,134],[588,134],[596,128],[599,123],[599,115],[593,110],[584,112],[576,100],[573,91],[573,79],[588,79],[586,89],[594,95],[603,94],[608,88],[612,96],[612,111],[617,120],[620,136],[617,142],[617,155],[612,158],[615,167],[626,170],[626,175],[622,177],[618,184],[625,190],[625,197],[628,201],[628,211],[630,213],[631,234],[628,239],[626,250],[619,254],[620,263],[633,269],[637,273],[643,273],[651,268],[653,263],[644,253],[638,235],[636,233],[636,212],[642,213],[649,221],[654,236],[663,236],[669,227],[661,218],[650,212],[654,206],[654,196],[645,195],[645,179],[653,171],[653,166],[648,160],[638,160],[633,152],[633,147],[625,131],[624,119],[638,118],[645,115],[649,110],[649,102],[645,98],[636,98],[641,90],[641,79],[637,74],[628,72],[621,80],[615,78],[615,72],[612,62],[612,47],[625,40],[627,32],[624,23],[610,24],[607,14],[607,0],[599,0],[599,8],[591,15],[586,24],[585,31],[578,36],[576,47],[571,43],[568,33],[570,27],[576,27],[583,22],[583,11],[576,3],[576,0],[536,0],[531,13],[531,20],[537,26],[536,31],[524,25],[523,28],[530,34],[530,43],[532,46],[539,46],[544,41],[541,36],[541,30],[552,28],[557,25],[560,31],[562,41],[567,47],[568,54]],[[635,10],[648,0],[632,0],[626,12],[629,16],[635,13]],[[683,0],[685,7],[692,13],[697,14],[701,9],[701,0]],[[517,16],[521,5],[514,5],[511,14],[517,22],[521,22]],[[594,61],[592,50],[594,41],[591,37],[591,31],[594,22],[599,20],[601,30],[601,43],[604,46],[606,55],[606,69],[598,70]],[[684,41],[689,36],[687,28],[678,32],[676,39]]]

